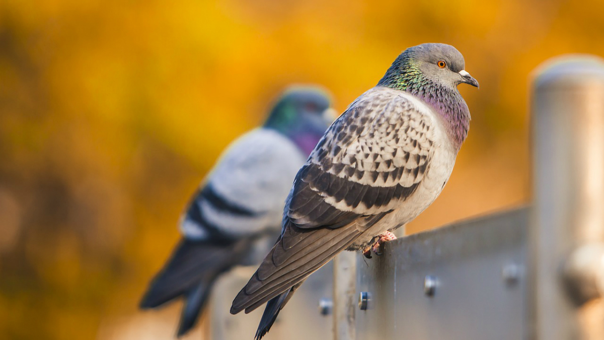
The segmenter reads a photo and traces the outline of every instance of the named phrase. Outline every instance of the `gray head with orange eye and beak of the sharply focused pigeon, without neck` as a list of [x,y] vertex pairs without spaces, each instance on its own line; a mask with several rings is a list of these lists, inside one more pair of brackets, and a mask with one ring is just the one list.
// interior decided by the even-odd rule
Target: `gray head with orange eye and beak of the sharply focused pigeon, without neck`
[[455,47],[421,44],[400,53],[377,85],[399,90],[425,87],[426,82],[445,88],[457,88],[460,83],[478,87],[478,81],[464,67],[463,56]]

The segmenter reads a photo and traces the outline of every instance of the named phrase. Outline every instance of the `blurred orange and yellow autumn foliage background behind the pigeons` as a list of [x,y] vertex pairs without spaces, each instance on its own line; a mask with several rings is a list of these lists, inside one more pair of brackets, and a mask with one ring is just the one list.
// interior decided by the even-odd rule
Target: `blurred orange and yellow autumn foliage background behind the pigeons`
[[[469,138],[408,232],[528,197],[528,76],[604,55],[604,2],[0,1],[0,338],[169,339],[138,299],[189,195],[289,83],[338,111],[397,54],[455,45]],[[201,339],[199,330],[188,338]]]

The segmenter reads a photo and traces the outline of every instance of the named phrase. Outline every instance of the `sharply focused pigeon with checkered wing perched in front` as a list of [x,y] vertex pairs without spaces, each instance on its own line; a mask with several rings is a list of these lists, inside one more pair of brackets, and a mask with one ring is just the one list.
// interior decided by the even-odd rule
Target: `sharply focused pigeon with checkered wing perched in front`
[[407,48],[327,129],[295,177],[277,243],[231,306],[266,302],[255,339],[311,273],[342,250],[379,253],[437,198],[469,129],[460,83],[478,87],[451,45]]

